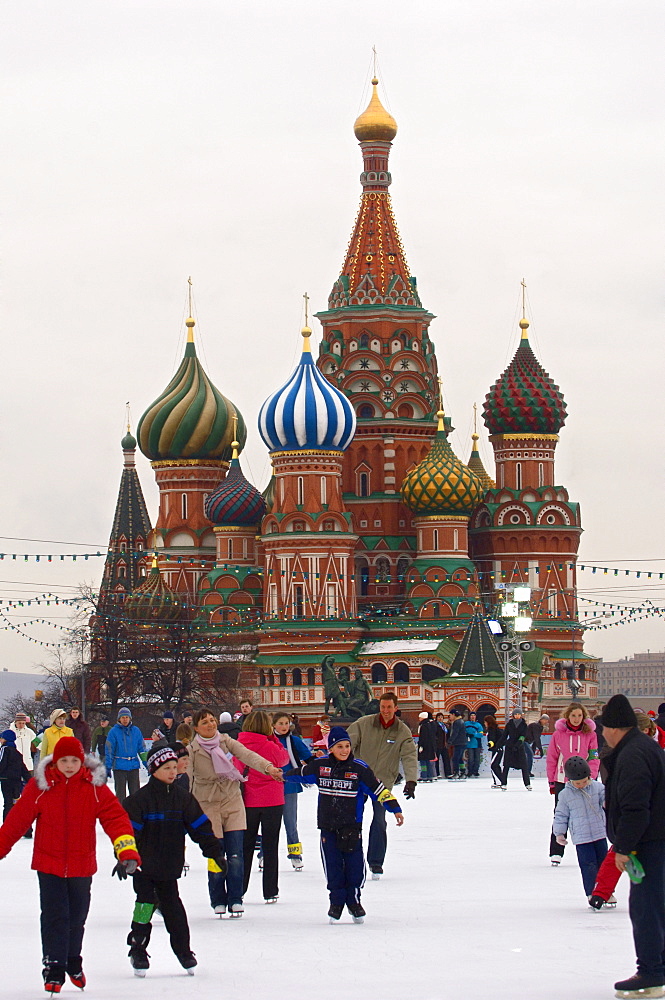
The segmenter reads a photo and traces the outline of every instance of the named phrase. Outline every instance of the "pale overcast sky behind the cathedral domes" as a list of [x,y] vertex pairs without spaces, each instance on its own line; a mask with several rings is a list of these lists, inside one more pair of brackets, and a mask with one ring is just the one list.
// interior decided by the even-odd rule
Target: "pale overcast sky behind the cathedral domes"
[[[325,308],[343,261],[376,45],[454,448],[468,456],[473,403],[516,349],[524,277],[532,344],[568,403],[557,481],[582,505],[580,561],[665,572],[661,0],[5,0],[0,19],[7,536],[107,542],[125,401],[135,427],[177,366],[190,274],[202,360],[263,486],[257,413],[300,349],[302,293]],[[485,436],[481,453],[492,471]],[[0,599],[101,569],[5,558]],[[579,586],[665,607],[657,578]],[[665,648],[663,619],[587,637],[608,659],[648,648]],[[44,653],[0,631],[2,666]]]

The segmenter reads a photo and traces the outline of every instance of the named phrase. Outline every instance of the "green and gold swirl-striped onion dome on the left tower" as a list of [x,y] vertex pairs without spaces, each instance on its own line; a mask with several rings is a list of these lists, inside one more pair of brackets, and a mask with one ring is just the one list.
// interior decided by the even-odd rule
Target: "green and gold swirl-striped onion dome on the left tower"
[[161,396],[148,407],[137,428],[139,448],[153,462],[169,459],[229,461],[236,437],[242,450],[247,429],[233,403],[212,384],[194,347],[194,320],[185,356]]

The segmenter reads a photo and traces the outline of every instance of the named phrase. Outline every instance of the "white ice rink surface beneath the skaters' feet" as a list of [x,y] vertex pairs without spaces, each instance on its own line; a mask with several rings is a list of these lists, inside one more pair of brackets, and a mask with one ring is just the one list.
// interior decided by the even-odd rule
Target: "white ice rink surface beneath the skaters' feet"
[[[615,911],[587,907],[574,848],[559,868],[550,865],[552,802],[542,776],[528,793],[516,771],[507,792],[493,791],[487,777],[419,785],[415,801],[404,805],[404,826],[397,829],[388,817],[385,875],[365,886],[362,926],[346,913],[339,925],[328,923],[314,790],[300,795],[304,870],[291,869],[283,838],[279,902],[263,903],[255,862],[240,920],[213,916],[205,861],[190,842],[191,868],[180,890],[199,961],[194,979],[171,953],[159,918],[149,947],[152,968],[145,979],[134,977],[125,944],[131,882],[109,877],[114,862],[100,831],[83,948],[85,998],[172,1000],[193,989],[223,1000],[611,997],[614,980],[635,966],[628,883],[625,876],[619,882]],[[22,840],[0,865],[3,1000],[46,995],[31,853],[32,843]],[[61,996],[78,992],[68,983]]]

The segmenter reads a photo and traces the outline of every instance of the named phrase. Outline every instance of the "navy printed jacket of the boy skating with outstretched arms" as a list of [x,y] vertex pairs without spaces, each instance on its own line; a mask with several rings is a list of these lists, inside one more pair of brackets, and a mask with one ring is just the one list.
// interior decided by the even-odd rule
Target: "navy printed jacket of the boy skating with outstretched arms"
[[319,830],[339,830],[343,826],[361,824],[367,795],[380,802],[388,812],[401,812],[397,799],[379,781],[364,760],[350,754],[347,760],[312,757],[295,772],[285,775],[287,781],[301,780],[319,786],[316,814]]

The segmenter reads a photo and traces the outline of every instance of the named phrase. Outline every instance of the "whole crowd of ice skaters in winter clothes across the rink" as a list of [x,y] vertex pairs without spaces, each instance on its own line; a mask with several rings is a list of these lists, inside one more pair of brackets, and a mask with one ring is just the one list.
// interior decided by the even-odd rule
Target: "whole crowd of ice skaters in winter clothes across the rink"
[[[324,716],[312,739],[304,740],[297,718],[254,710],[246,700],[235,717],[202,708],[176,721],[166,711],[148,743],[126,707],[113,725],[101,719],[92,732],[77,708],[69,715],[54,711],[40,734],[19,712],[0,733],[0,858],[21,837],[32,837],[34,827],[47,992],[60,992],[67,976],[85,986],[81,951],[97,820],[113,844],[114,874],[133,881],[127,944],[135,974],[144,976],[150,967],[155,910],[178,961],[193,973],[196,957],[178,892],[186,835],[207,859],[212,911],[238,919],[257,844],[267,904],[279,899],[282,826],[288,858],[295,870],[302,868],[298,801],[304,788],[316,785],[328,918],[337,923],[346,908],[361,923],[366,863],[371,877],[380,879],[387,815],[398,826],[404,822],[395,786],[403,782],[409,799],[419,781],[479,778],[487,754],[491,788],[506,790],[517,770],[530,790],[534,759],[545,756],[554,801],[551,864],[559,864],[570,839],[588,906],[596,911],[616,905],[614,888],[624,871],[631,880],[637,973],[615,984],[616,996],[664,996],[665,704],[659,711],[656,720],[636,714],[616,695],[594,720],[573,702],[551,734],[548,716],[527,724],[518,709],[504,727],[491,715],[480,721],[457,710],[434,718],[423,712],[416,740],[399,717],[396,696],[387,692],[378,714],[348,728]],[[549,736],[546,750],[543,734]],[[366,801],[372,820],[365,852]]]

